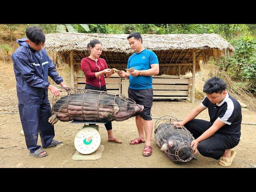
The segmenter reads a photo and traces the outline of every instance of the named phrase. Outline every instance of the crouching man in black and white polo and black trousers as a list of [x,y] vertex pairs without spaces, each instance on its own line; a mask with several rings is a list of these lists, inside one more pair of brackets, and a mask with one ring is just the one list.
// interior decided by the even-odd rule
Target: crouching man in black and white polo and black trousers
[[[226,92],[226,83],[214,76],[204,84],[206,97],[182,122],[174,125],[185,126],[194,136],[192,141],[195,154],[219,160],[221,166],[230,166],[236,155],[231,150],[238,145],[241,136],[242,112],[236,99]],[[194,119],[208,108],[210,122]]]

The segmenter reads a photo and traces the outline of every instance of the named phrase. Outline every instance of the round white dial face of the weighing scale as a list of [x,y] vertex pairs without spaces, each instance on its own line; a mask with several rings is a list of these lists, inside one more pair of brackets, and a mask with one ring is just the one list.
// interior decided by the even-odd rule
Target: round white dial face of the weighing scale
[[91,154],[100,146],[100,133],[94,128],[83,128],[74,139],[76,150],[82,154]]

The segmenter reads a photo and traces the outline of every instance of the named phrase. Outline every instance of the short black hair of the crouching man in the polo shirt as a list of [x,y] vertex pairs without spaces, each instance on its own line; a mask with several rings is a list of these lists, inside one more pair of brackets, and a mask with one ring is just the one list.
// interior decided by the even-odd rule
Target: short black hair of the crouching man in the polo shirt
[[204,84],[204,92],[207,94],[222,93],[226,90],[226,83],[218,76],[208,79]]

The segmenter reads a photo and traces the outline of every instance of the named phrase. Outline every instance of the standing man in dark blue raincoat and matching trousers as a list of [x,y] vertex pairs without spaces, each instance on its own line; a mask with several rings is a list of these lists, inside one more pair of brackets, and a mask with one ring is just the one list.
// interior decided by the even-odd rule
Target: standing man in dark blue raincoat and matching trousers
[[[62,143],[53,139],[54,126],[48,122],[48,118],[52,115],[48,89],[52,95],[61,96],[60,90],[48,82],[48,76],[56,84],[67,86],[43,48],[45,35],[42,29],[36,26],[28,27],[26,36],[27,38],[17,40],[20,47],[12,54],[18,108],[30,155],[44,157],[48,154],[43,148]],[[42,146],[37,145],[38,132]]]

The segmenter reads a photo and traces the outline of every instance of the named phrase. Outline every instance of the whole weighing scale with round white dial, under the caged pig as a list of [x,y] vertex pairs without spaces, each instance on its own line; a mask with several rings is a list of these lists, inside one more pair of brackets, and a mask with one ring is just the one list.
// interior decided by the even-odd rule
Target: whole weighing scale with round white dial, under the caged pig
[[98,124],[106,122],[92,121],[72,121],[70,123],[84,124],[82,129],[74,138],[76,153],[72,156],[73,160],[97,160],[101,157],[104,146],[100,145],[100,133]]

